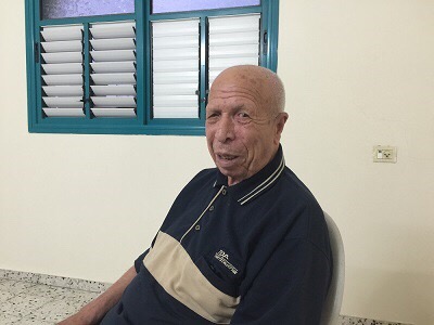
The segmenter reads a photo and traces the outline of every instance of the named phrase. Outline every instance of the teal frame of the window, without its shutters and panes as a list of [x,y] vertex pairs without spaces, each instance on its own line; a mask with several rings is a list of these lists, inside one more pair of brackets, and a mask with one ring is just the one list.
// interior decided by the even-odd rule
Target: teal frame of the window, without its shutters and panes
[[[136,0],[136,12],[102,16],[43,20],[39,18],[40,1],[25,0],[26,17],[26,64],[27,64],[27,109],[30,133],[77,133],[77,134],[167,134],[204,135],[205,106],[200,103],[200,118],[155,118],[151,116],[151,22],[164,20],[200,18],[201,47],[206,41],[206,20],[212,16],[260,13],[260,65],[276,72],[278,63],[279,0],[261,0],[259,6],[231,8],[206,11],[151,14],[150,0]],[[137,46],[137,117],[91,118],[90,104],[85,103],[86,117],[42,116],[40,27],[49,25],[84,24],[85,84],[90,82],[89,72],[89,24],[116,21],[136,21]],[[206,51],[201,51],[200,98],[205,98],[207,88]],[[85,87],[89,98],[89,87]]]

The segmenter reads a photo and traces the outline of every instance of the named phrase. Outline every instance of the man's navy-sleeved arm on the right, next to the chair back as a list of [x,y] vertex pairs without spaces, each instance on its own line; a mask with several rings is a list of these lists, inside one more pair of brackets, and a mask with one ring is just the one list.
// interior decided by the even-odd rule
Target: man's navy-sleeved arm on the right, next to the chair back
[[310,242],[285,239],[241,298],[231,324],[319,324],[330,271]]

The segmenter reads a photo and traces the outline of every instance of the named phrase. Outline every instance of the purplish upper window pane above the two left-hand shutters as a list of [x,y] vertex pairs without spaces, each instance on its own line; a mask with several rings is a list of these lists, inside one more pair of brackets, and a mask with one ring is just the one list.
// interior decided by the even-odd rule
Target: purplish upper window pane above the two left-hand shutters
[[65,18],[133,13],[135,0],[42,0],[41,18]]

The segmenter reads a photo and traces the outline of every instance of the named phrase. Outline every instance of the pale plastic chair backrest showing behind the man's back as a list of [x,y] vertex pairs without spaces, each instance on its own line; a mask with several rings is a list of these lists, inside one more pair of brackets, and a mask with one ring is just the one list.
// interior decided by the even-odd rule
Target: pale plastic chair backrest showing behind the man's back
[[322,308],[320,325],[336,325],[341,312],[342,298],[345,284],[345,252],[341,233],[333,219],[324,212],[327,227],[329,229],[330,246],[333,256],[333,275],[329,292]]

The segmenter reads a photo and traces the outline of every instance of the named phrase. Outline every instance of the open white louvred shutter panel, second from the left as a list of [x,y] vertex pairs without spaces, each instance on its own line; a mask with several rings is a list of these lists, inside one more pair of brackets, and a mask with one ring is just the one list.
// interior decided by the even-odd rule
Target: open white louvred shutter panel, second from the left
[[91,102],[97,117],[136,117],[136,23],[90,27]]

